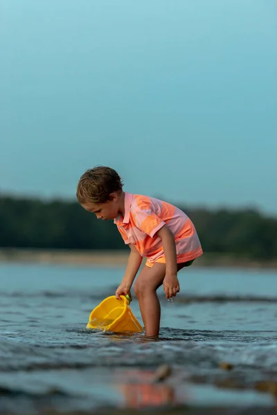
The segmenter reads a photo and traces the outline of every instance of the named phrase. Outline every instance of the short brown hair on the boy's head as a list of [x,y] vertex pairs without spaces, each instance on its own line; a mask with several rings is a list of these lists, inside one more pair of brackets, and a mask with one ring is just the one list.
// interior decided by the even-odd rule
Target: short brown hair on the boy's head
[[89,169],[80,177],[76,196],[80,205],[84,203],[105,203],[113,192],[121,191],[123,182],[116,170],[111,167],[97,166]]

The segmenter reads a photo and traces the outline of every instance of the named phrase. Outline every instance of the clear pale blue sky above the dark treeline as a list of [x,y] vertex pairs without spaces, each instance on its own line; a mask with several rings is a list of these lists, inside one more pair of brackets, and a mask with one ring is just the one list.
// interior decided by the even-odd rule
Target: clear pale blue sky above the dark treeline
[[0,0],[0,192],[277,214],[276,0]]

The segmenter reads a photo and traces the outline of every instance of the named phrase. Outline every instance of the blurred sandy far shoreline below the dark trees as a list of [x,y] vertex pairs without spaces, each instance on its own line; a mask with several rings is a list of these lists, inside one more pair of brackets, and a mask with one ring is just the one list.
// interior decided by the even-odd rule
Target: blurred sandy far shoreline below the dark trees
[[[15,264],[64,264],[69,266],[102,266],[122,267],[127,262],[129,252],[126,251],[98,251],[98,250],[43,250],[23,248],[0,249],[0,263]],[[206,253],[197,258],[193,267],[209,268],[249,268],[249,269],[277,269],[277,259],[270,261],[253,260],[235,257],[235,255],[218,255]]]

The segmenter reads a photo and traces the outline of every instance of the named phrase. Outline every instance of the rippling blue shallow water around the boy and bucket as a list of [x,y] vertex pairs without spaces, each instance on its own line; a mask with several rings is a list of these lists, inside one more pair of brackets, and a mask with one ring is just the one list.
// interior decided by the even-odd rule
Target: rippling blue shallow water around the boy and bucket
[[[181,293],[172,302],[159,290],[158,341],[86,329],[91,310],[114,294],[122,275],[118,268],[0,264],[2,412],[208,400],[271,405],[253,387],[277,375],[275,272],[182,270]],[[142,324],[135,299],[131,305]],[[234,366],[228,375],[222,361]],[[172,376],[153,384],[154,370],[165,363]],[[248,391],[240,397],[215,389],[226,377]]]

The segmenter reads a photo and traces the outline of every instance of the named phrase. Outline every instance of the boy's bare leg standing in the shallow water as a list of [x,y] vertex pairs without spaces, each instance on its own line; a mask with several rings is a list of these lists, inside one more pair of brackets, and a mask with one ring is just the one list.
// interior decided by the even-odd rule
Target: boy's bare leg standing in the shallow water
[[[178,270],[183,267],[184,264],[178,264]],[[166,264],[157,262],[152,268],[144,266],[134,284],[134,293],[139,299],[145,334],[150,337],[159,335],[161,306],[156,291],[163,284],[165,275]]]

